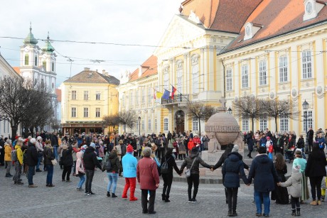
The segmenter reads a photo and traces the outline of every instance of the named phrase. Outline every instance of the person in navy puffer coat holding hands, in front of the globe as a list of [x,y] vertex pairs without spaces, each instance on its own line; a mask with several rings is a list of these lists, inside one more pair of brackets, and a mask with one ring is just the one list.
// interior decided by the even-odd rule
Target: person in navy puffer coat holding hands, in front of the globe
[[244,173],[244,165],[242,156],[238,152],[232,152],[227,156],[223,168],[223,183],[227,188],[227,201],[228,201],[228,216],[237,216],[237,192],[240,187],[240,175],[245,184],[247,184],[247,177]]

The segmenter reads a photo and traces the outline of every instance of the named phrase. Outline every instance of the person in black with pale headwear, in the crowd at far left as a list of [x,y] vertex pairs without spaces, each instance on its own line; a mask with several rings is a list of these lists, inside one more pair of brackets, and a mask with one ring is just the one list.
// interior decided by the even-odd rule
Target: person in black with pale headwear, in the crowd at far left
[[36,138],[31,138],[26,150],[26,162],[28,165],[28,187],[38,187],[33,183],[36,165],[38,164],[38,151],[36,151]]

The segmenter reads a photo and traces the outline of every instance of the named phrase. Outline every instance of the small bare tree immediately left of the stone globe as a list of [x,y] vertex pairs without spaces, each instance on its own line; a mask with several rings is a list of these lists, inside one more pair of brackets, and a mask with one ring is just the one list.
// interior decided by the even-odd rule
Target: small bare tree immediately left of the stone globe
[[210,105],[205,105],[204,103],[188,103],[188,111],[187,114],[189,117],[198,119],[198,126],[199,126],[199,136],[201,136],[201,124],[200,121],[204,120],[207,121],[210,116],[217,113],[217,109]]

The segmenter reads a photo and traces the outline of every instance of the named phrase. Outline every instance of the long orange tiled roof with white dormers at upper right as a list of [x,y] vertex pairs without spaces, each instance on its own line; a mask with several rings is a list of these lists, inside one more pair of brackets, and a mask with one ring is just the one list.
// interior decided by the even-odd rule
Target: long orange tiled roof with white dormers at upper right
[[[323,1],[323,3],[325,2],[327,2],[327,0]],[[247,21],[245,21],[245,23],[250,22],[262,25],[262,28],[259,29],[253,38],[244,41],[245,23],[243,23],[240,36],[228,45],[224,52],[267,40],[268,38],[281,36],[300,28],[321,23],[322,21],[327,21],[327,6],[321,9],[316,18],[309,21],[303,21],[303,16],[304,1],[264,0],[257,6],[257,9],[252,12],[249,18],[247,18]]]

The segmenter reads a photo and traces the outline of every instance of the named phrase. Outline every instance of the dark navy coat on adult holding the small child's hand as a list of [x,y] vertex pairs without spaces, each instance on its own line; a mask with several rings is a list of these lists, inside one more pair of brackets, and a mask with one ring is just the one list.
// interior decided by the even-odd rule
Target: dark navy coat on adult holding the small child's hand
[[267,154],[261,154],[252,161],[248,182],[254,178],[254,190],[257,192],[270,192],[274,190],[274,182],[280,182],[272,160]]

